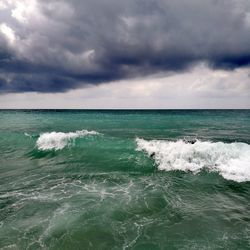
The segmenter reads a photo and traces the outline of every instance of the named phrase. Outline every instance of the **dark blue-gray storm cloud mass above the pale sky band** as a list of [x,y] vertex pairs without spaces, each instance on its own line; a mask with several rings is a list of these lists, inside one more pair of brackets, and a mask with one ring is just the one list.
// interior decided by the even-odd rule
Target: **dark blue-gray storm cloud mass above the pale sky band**
[[23,0],[5,5],[0,9],[2,93],[63,92],[179,72],[202,61],[228,70],[250,64],[249,0]]

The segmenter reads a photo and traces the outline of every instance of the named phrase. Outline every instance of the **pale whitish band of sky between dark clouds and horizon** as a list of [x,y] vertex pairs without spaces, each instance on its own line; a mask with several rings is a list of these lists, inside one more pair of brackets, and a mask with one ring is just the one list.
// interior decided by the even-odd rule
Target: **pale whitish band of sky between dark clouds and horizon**
[[201,64],[171,76],[113,81],[65,93],[0,97],[1,108],[14,109],[249,109],[249,69],[215,70]]

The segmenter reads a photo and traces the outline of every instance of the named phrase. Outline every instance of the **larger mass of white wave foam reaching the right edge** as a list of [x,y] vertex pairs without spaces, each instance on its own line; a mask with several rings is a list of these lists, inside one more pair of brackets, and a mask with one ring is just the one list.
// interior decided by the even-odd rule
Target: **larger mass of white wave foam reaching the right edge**
[[197,140],[163,141],[136,139],[137,150],[153,157],[160,170],[181,170],[198,173],[206,168],[225,179],[250,181],[250,145]]

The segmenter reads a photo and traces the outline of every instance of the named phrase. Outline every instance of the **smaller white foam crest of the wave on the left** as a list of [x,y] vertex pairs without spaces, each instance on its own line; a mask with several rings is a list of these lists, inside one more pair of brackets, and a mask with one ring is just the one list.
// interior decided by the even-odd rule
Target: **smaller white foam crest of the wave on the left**
[[43,133],[37,139],[36,145],[39,150],[59,150],[69,145],[73,140],[78,137],[87,135],[97,135],[96,131],[81,130],[76,132],[50,132]]

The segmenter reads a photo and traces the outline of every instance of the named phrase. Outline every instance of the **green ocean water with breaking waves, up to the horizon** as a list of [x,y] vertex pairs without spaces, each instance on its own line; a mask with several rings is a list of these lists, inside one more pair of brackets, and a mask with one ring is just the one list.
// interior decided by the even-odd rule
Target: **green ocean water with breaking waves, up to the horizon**
[[250,249],[250,111],[0,111],[0,249]]

